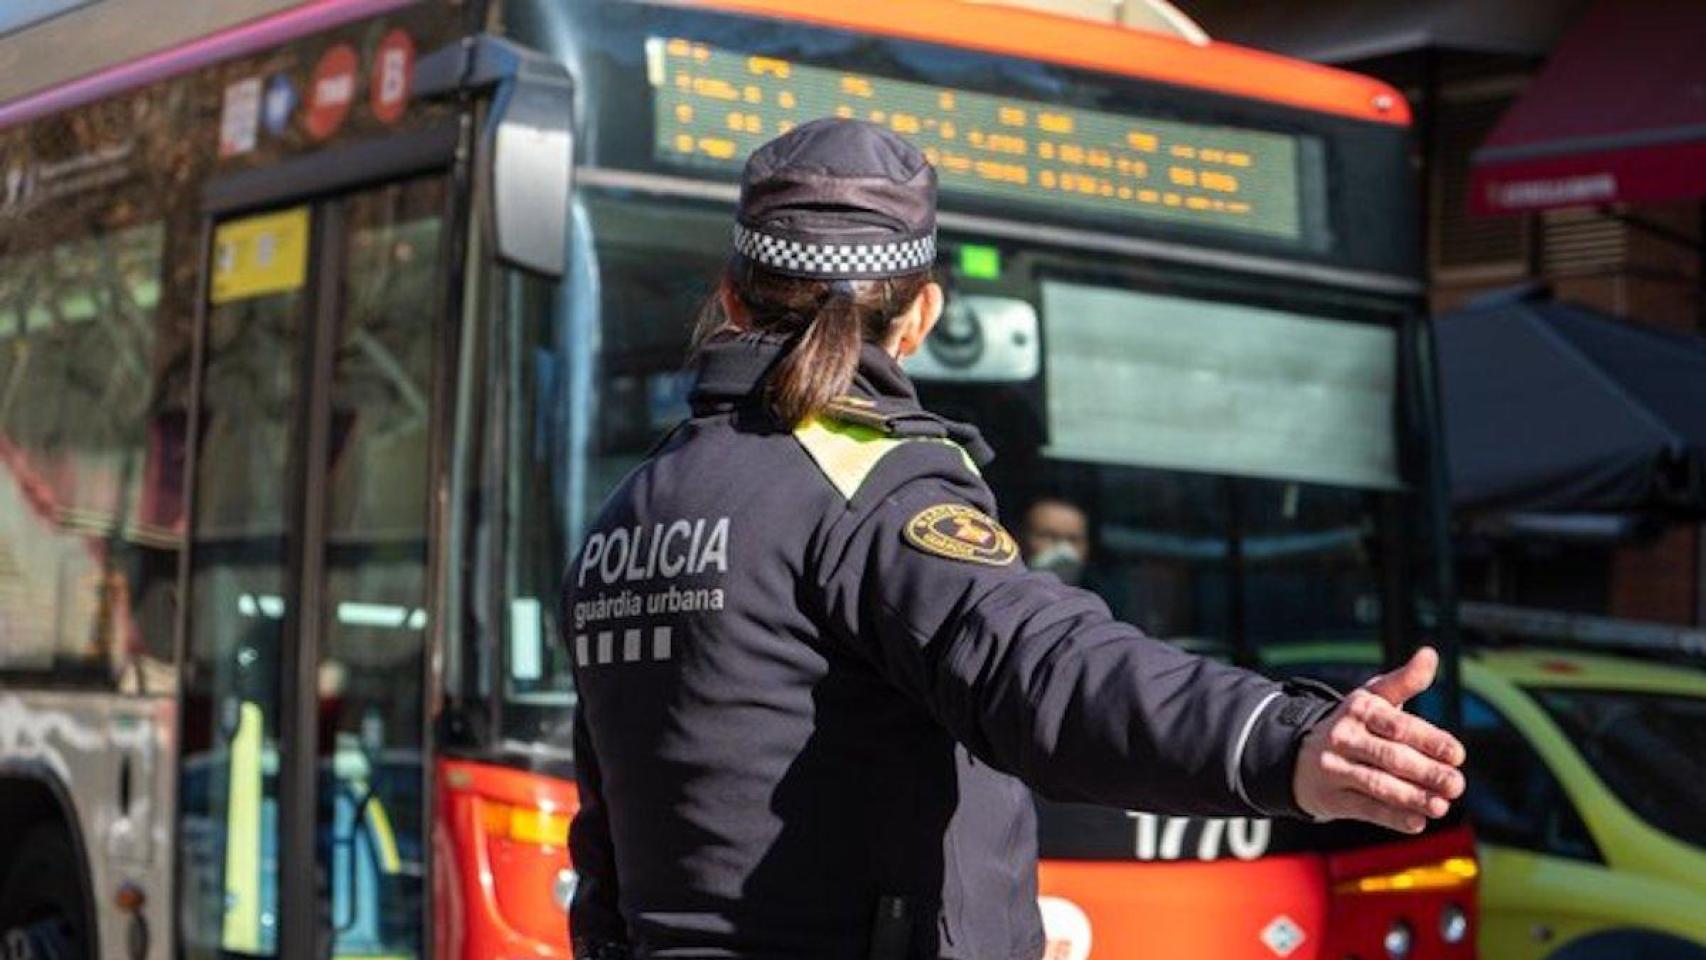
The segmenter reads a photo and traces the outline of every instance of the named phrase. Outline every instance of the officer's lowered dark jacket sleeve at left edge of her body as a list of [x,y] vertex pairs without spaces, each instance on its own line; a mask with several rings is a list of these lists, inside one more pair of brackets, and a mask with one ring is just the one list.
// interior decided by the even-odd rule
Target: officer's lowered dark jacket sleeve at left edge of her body
[[575,786],[580,808],[568,827],[568,856],[575,868],[575,899],[568,909],[568,931],[575,960],[628,957],[628,928],[618,909],[616,858],[611,849],[609,812],[599,757],[587,735],[587,711],[575,706]]

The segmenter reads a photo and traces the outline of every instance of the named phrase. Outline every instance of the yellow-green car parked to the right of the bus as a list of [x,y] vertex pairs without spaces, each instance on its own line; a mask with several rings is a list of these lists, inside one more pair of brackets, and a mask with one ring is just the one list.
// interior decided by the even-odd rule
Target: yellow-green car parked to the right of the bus
[[[1377,658],[1317,645],[1274,667],[1349,685]],[[1706,958],[1706,670],[1471,648],[1462,680],[1481,957]]]

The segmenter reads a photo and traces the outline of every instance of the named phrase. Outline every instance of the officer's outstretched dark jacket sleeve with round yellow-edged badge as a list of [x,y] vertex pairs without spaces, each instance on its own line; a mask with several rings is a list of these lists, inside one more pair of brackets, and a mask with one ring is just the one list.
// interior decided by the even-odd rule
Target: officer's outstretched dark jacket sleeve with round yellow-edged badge
[[[920,469],[918,457],[935,462]],[[815,573],[833,636],[1044,796],[1303,815],[1291,795],[1298,745],[1332,701],[1114,621],[1094,593],[1027,571],[993,520],[1005,551],[930,549],[921,520],[993,508],[988,488],[942,457],[914,454],[908,481],[860,491],[824,535]]]

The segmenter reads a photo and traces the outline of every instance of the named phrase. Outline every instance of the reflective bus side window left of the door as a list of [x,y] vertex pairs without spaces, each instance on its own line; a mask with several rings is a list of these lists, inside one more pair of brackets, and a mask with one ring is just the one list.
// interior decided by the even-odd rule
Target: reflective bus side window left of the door
[[165,225],[43,210],[0,235],[0,670],[157,687],[183,535],[174,372],[189,353]]

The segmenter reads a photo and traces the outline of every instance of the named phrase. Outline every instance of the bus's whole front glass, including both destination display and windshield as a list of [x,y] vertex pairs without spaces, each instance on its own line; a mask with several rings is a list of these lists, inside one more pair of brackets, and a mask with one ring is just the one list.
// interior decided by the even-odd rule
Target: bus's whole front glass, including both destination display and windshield
[[1406,169],[1401,126],[693,7],[508,22],[577,63],[585,104],[568,276],[507,295],[508,743],[566,750],[563,558],[688,414],[746,153],[814,116],[882,123],[938,169],[949,310],[908,370],[984,430],[1027,561],[1250,665],[1430,629],[1407,194],[1341,188]]

